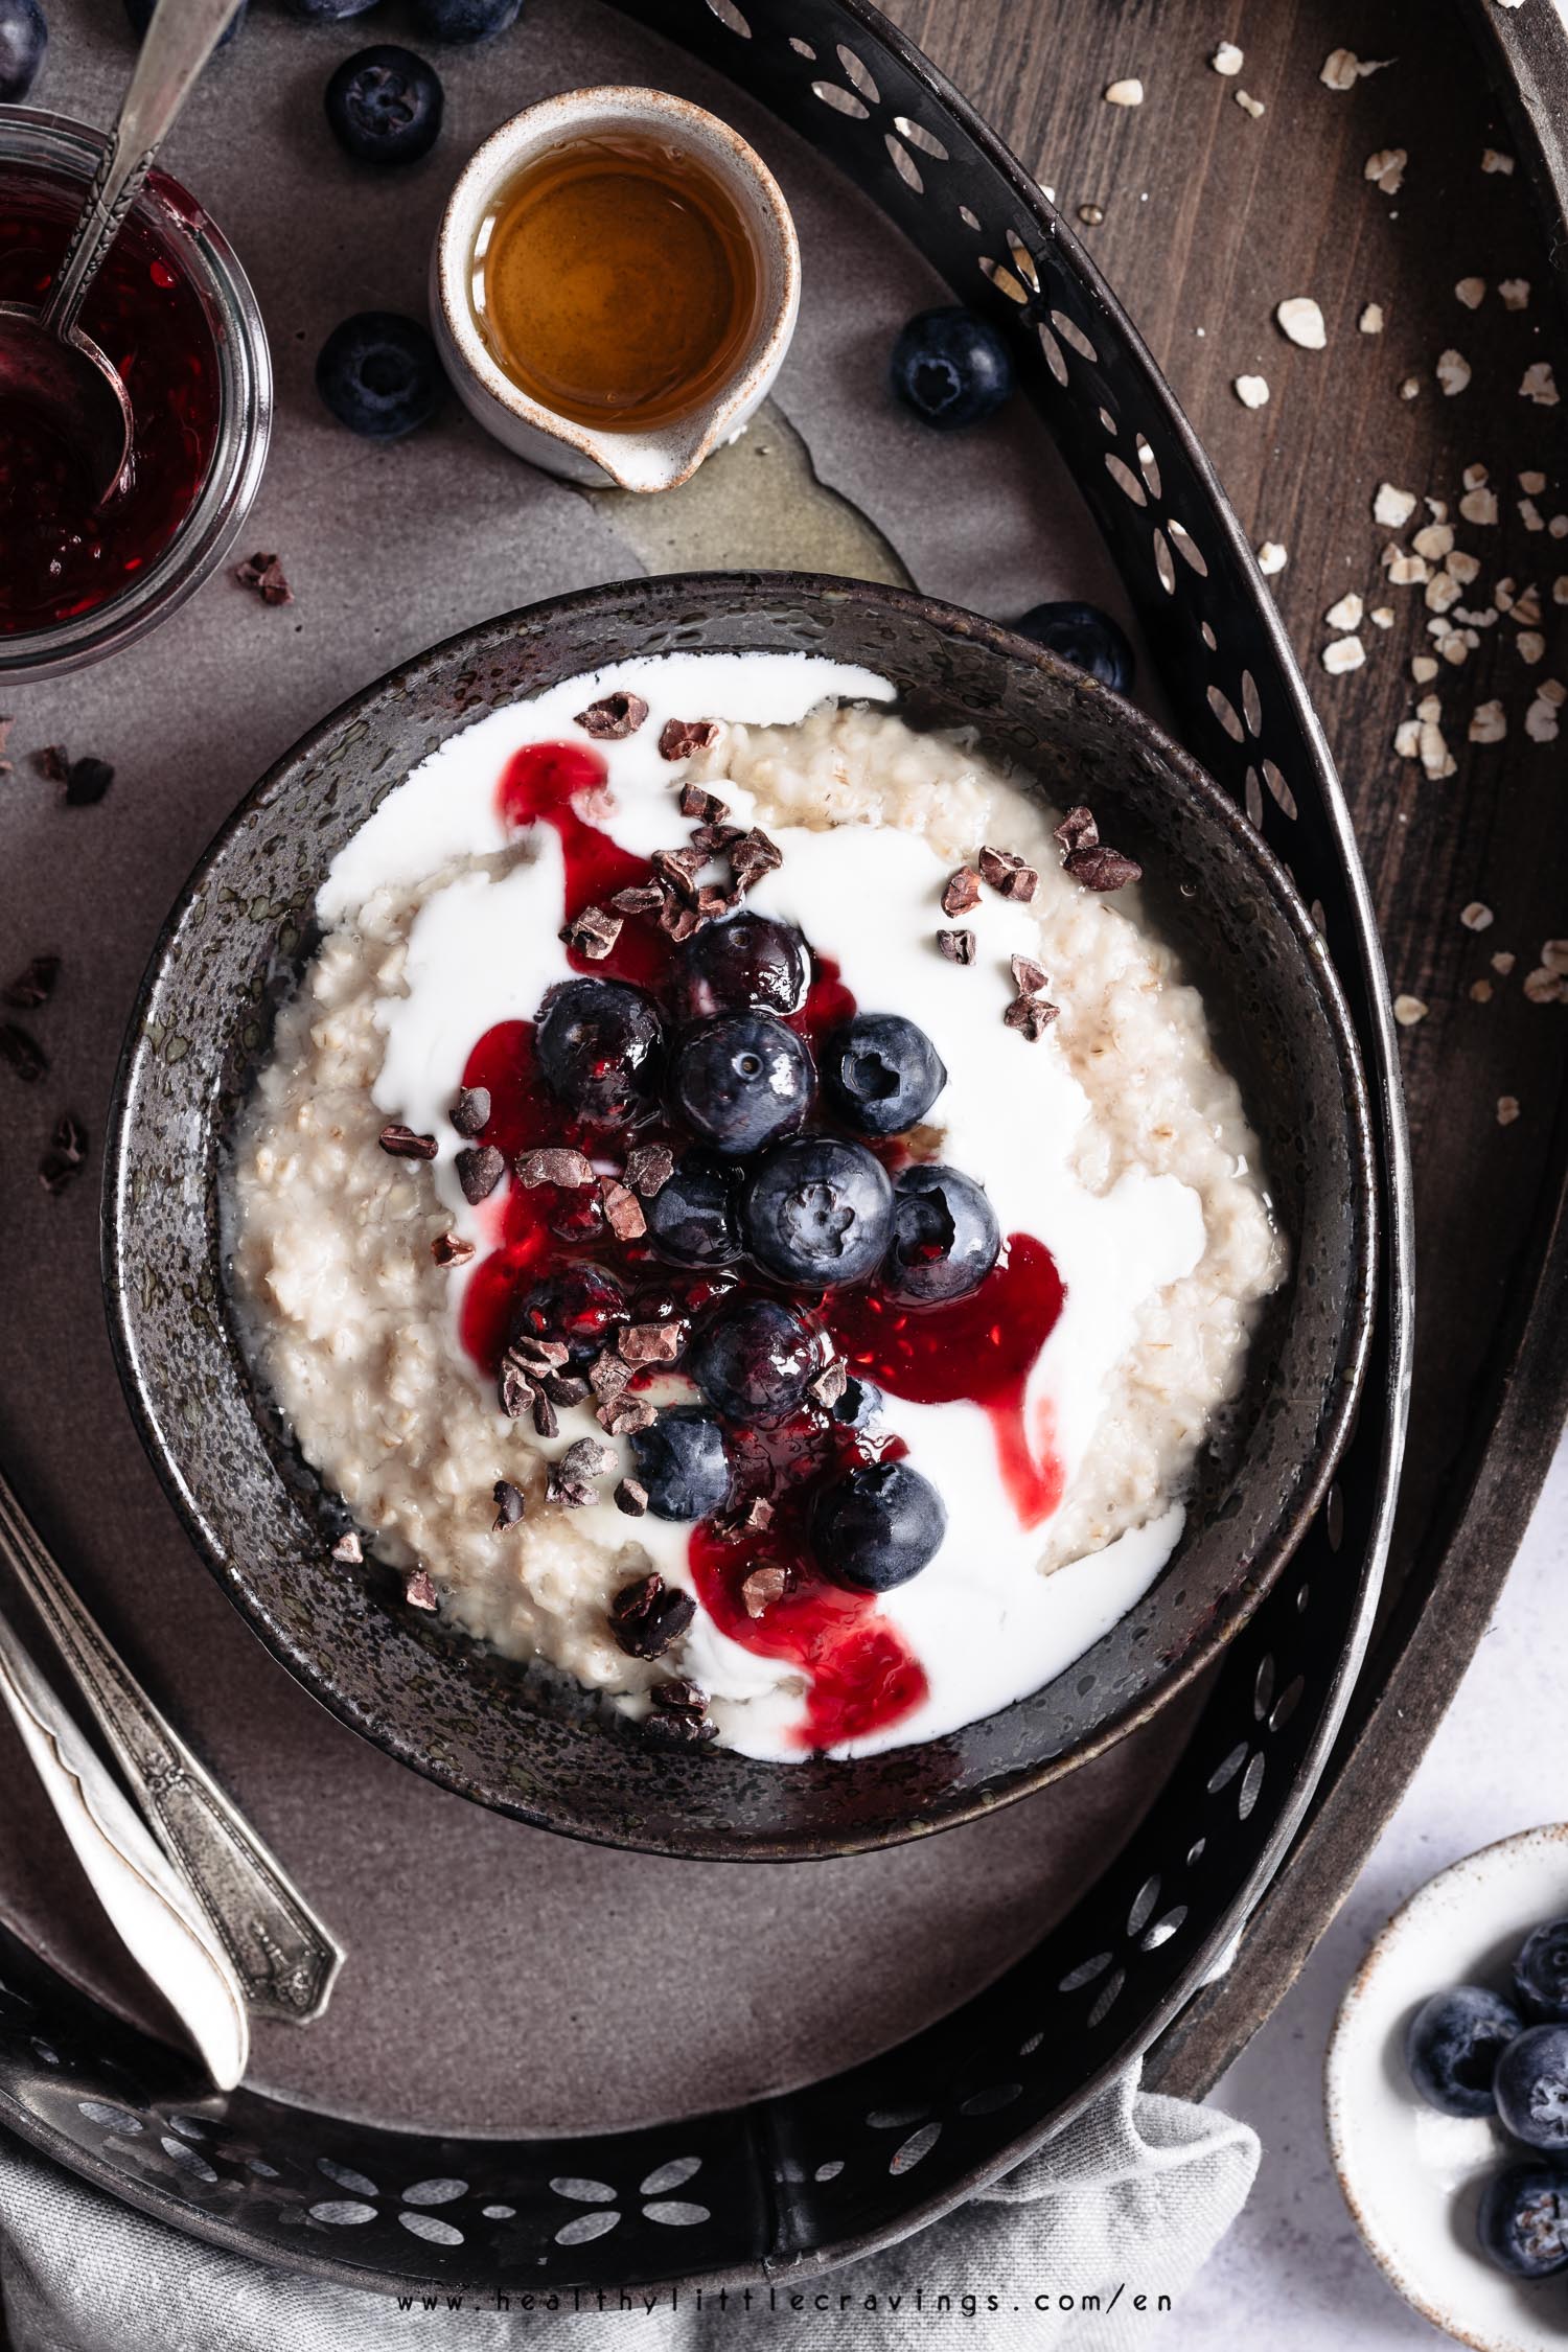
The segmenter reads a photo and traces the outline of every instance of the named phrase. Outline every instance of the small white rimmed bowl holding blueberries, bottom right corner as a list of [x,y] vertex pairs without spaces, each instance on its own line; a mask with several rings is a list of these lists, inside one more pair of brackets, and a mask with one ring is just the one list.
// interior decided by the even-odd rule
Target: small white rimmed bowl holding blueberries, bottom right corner
[[1493,2117],[1429,2107],[1406,2070],[1406,2027],[1448,1985],[1507,1994],[1519,1945],[1566,1912],[1568,1823],[1469,1853],[1394,1912],[1328,2039],[1328,2152],[1352,2220],[1406,2303],[1474,2352],[1566,2352],[1568,2272],[1514,2281],[1476,2246],[1486,2180],[1533,2152]]

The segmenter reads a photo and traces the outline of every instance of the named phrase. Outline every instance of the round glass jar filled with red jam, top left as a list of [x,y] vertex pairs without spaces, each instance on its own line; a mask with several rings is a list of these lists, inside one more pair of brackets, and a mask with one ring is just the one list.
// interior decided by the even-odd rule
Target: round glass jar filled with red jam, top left
[[[0,301],[38,308],[103,139],[0,111]],[[78,668],[207,579],[261,482],[273,369],[256,299],[195,198],[148,176],[82,310],[125,376],[132,485],[94,508],[47,421],[0,405],[0,680]]]

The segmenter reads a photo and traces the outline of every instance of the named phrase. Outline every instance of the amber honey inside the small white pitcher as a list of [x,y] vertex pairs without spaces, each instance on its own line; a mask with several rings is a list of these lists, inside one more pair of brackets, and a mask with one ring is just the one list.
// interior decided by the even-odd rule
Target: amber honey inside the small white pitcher
[[736,372],[757,325],[757,256],[729,191],[689,153],[588,136],[498,191],[470,296],[531,400],[635,433],[698,409]]

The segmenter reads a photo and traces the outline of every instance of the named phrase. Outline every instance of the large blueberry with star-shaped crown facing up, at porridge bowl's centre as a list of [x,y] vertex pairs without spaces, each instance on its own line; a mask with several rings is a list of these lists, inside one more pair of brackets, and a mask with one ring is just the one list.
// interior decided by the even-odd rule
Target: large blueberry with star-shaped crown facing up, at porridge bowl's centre
[[893,1185],[863,1143],[799,1136],[766,1155],[741,1202],[741,1235],[778,1282],[842,1289],[886,1254]]

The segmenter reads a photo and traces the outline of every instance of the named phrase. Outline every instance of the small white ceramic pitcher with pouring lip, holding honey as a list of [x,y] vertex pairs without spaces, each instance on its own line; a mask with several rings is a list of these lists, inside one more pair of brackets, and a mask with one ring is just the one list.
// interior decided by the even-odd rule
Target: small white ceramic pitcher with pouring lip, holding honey
[[[733,372],[691,416],[649,433],[614,433],[541,407],[512,383],[470,301],[480,221],[498,188],[545,148],[614,132],[656,132],[705,165],[733,198],[757,256],[757,325]],[[465,162],[430,254],[430,322],[463,407],[498,442],[569,482],[675,489],[733,440],[773,386],[799,310],[799,245],[778,181],[729,122],[663,89],[567,89],[512,115]]]

